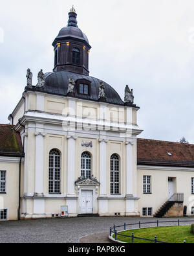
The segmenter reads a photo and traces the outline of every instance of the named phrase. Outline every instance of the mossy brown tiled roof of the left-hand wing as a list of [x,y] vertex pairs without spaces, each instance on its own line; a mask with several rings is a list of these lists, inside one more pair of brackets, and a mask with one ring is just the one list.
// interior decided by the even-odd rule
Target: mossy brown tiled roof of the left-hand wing
[[0,155],[17,156],[23,153],[21,137],[14,125],[0,124]]

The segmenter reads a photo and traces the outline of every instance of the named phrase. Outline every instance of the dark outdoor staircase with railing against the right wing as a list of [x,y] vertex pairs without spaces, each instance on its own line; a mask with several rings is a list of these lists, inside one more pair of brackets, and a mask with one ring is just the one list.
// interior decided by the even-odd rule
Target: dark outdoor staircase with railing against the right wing
[[169,211],[169,209],[171,209],[171,207],[173,207],[174,204],[183,203],[183,202],[184,202],[184,194],[183,193],[173,194],[173,196],[171,196],[171,198],[169,198],[169,200],[167,200],[167,202],[165,202],[164,205],[162,205],[162,207],[160,207],[160,209],[158,209],[158,211],[156,211],[154,217],[156,217],[156,218],[164,217],[164,215],[166,215],[167,211]]

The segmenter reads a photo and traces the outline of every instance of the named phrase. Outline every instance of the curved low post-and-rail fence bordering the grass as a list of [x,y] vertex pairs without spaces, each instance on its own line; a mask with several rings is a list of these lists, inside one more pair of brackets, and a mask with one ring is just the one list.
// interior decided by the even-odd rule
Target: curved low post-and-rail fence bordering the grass
[[[157,240],[157,237],[155,236],[154,239],[144,239],[142,237],[135,237],[134,234],[132,233],[131,236],[129,235],[122,235],[120,234],[120,232],[123,232],[123,231],[129,231],[131,229],[126,229],[127,226],[135,226],[135,225],[138,225],[138,228],[133,228],[133,229],[141,229],[142,228],[142,225],[144,224],[156,224],[156,227],[159,227],[159,224],[166,224],[166,223],[177,223],[177,226],[180,226],[180,223],[182,222],[194,222],[194,220],[167,220],[167,221],[159,221],[157,220],[156,222],[138,222],[138,223],[132,223],[132,224],[126,224],[124,223],[124,225],[120,225],[120,226],[113,226],[113,227],[110,227],[110,233],[109,233],[109,239],[110,240],[113,240],[114,242],[118,242],[118,243],[122,243],[122,244],[127,244],[126,242],[122,242],[120,240],[118,240],[118,236],[121,236],[121,237],[129,237],[131,238],[131,243],[133,244],[134,243],[134,239],[140,239],[140,240],[147,240],[147,241],[150,241],[150,242],[153,242],[153,243],[160,243],[160,244],[169,244],[169,242],[164,242],[164,241],[160,241],[160,240]],[[124,227],[123,230],[121,231],[117,231],[116,228],[118,227]],[[162,226],[164,227],[164,226]],[[149,228],[149,227],[143,227],[143,228]],[[113,238],[113,235],[114,235],[114,238]],[[183,241],[183,243],[186,243],[186,240]]]

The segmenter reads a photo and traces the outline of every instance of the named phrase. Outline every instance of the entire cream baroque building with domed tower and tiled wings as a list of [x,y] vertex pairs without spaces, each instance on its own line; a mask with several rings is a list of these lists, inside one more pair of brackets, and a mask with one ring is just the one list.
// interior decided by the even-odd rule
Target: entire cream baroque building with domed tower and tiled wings
[[0,220],[194,214],[194,145],[137,139],[133,90],[125,99],[89,76],[87,36],[74,8],[38,74],[0,125]]

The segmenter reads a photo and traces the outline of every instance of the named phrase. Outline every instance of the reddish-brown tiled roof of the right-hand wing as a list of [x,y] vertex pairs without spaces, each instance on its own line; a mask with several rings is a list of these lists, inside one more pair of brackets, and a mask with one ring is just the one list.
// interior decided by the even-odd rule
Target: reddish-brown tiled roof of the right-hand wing
[[139,165],[194,167],[194,145],[138,139],[137,160]]

